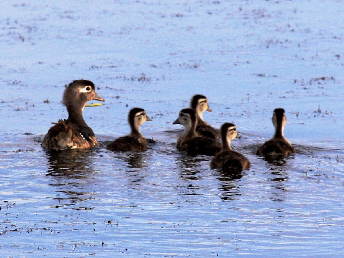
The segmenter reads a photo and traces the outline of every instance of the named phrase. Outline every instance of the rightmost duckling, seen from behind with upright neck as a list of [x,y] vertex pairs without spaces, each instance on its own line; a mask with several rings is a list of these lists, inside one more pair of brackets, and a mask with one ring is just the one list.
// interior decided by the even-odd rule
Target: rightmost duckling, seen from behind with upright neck
[[264,143],[263,146],[259,147],[256,154],[260,156],[284,156],[295,153],[294,147],[288,142],[283,134],[284,126],[287,123],[284,109],[275,109],[271,119],[276,130],[275,136]]

